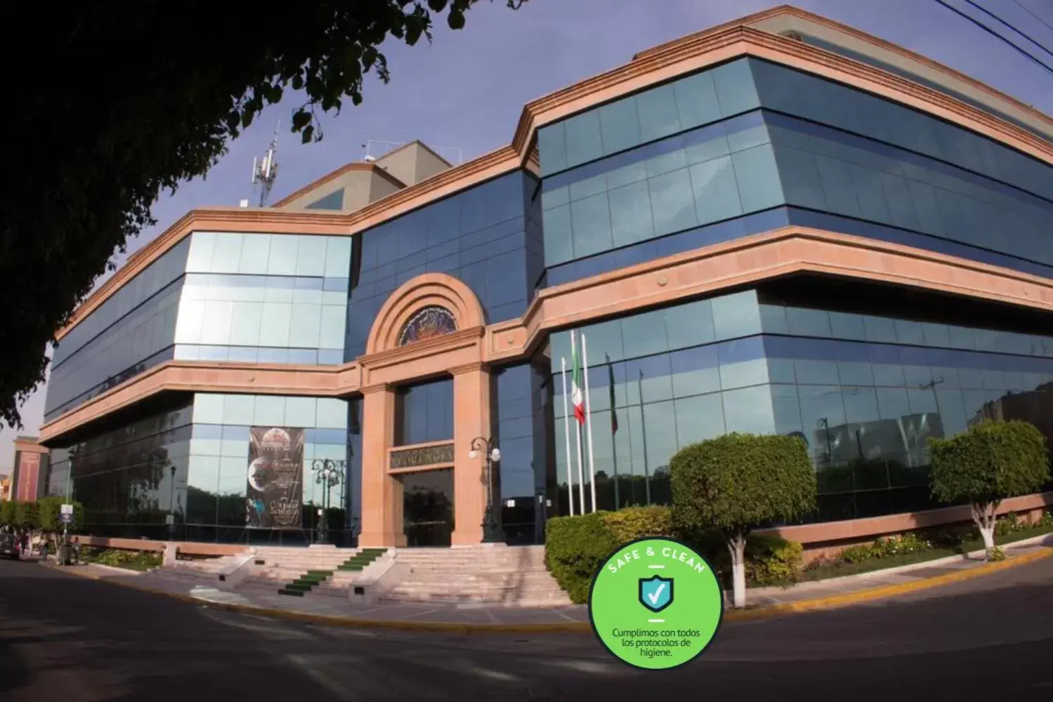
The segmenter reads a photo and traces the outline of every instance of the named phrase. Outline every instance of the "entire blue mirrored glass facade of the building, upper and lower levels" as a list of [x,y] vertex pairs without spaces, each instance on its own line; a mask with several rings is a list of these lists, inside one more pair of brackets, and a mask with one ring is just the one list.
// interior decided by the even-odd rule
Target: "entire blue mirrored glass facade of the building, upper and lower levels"
[[[537,148],[537,175],[354,236],[193,233],[62,339],[45,418],[166,360],[353,362],[391,294],[425,273],[465,283],[486,324],[519,319],[547,287],[794,225],[1053,278],[1048,164],[780,64],[739,58],[585,109],[541,127]],[[929,438],[992,417],[1053,439],[1050,329],[1048,315],[807,276],[581,324],[599,506],[668,503],[672,455],[729,432],[803,437],[812,520],[935,506]],[[490,369],[510,543],[542,539],[580,483],[565,449],[569,337]],[[437,375],[396,389],[396,446],[453,440],[454,382]],[[326,502],[313,462],[329,459],[344,466],[327,504],[346,543],[363,421],[355,395],[183,393],[55,449],[48,489],[72,485],[100,535],[164,538],[172,514],[180,538],[270,539],[244,528],[250,427],[302,428],[302,538]],[[398,479],[411,545],[449,543],[453,470]]]

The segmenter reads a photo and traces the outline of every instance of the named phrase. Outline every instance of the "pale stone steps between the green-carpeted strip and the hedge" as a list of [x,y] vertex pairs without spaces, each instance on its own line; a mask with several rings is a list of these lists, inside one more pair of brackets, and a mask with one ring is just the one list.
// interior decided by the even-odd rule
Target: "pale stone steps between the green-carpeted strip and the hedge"
[[410,574],[382,603],[562,607],[571,604],[544,565],[543,546],[479,545],[399,548]]

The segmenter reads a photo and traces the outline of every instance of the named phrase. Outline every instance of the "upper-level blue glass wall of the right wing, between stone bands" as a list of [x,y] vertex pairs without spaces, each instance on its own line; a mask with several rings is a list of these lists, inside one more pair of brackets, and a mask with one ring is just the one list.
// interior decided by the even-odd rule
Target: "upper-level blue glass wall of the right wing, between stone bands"
[[1049,165],[764,61],[582,113],[538,144],[542,285],[791,224],[1053,276]]

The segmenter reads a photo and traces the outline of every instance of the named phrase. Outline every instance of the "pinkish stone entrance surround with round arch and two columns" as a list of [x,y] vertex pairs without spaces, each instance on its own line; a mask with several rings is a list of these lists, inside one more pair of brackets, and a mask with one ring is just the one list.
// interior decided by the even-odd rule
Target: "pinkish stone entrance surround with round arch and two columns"
[[[362,388],[362,546],[443,541],[436,534],[452,502],[453,545],[482,541],[486,490],[483,462],[470,459],[472,439],[490,436],[490,370],[482,363],[485,322],[475,294],[444,274],[424,274],[395,290],[377,314]],[[397,441],[399,387],[453,378],[453,436],[418,444]],[[401,444],[401,445],[400,445]],[[408,495],[406,489],[413,495]],[[445,497],[443,497],[445,496]],[[417,510],[406,515],[406,509]],[[409,517],[409,519],[406,519]],[[449,530],[448,530],[449,533]]]

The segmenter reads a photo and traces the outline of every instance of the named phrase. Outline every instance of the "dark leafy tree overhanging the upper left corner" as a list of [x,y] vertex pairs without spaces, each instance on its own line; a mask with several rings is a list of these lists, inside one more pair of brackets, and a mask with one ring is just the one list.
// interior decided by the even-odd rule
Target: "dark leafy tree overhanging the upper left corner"
[[20,41],[0,48],[22,75],[3,117],[17,177],[0,196],[0,420],[21,426],[55,332],[115,252],[155,224],[161,190],[203,177],[286,92],[300,101],[292,131],[320,140],[319,111],[359,104],[371,71],[390,79],[388,36],[430,39],[441,13],[459,29],[478,1],[304,0],[277,20],[200,0],[26,6]]

